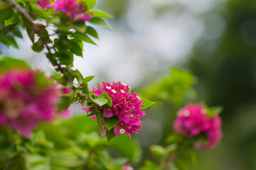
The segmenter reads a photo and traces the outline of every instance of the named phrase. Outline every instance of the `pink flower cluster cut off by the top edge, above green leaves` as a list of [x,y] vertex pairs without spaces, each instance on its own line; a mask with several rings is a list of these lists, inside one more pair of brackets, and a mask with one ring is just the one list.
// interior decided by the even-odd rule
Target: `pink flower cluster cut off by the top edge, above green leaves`
[[81,21],[89,21],[91,13],[85,13],[86,5],[77,0],[38,0],[42,8],[55,8],[55,12],[61,11],[70,18]]

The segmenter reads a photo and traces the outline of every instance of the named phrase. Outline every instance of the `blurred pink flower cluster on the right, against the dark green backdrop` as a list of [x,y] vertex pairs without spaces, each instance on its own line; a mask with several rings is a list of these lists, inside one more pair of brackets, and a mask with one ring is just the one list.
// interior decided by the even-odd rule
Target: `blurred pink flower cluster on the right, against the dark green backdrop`
[[[197,105],[188,105],[178,112],[174,122],[174,131],[180,132],[188,137],[206,135],[208,143],[204,147],[216,147],[222,137],[220,132],[221,120],[218,115],[208,117],[206,109]],[[196,145],[201,145],[197,142]],[[196,147],[196,146],[195,146]]]

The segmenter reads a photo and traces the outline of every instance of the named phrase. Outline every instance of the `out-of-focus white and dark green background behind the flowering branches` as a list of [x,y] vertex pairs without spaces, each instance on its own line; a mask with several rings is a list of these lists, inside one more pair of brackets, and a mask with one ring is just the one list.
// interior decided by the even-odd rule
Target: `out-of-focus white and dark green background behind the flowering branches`
[[[123,81],[144,91],[170,67],[190,70],[196,77],[192,99],[156,104],[135,135],[143,159],[156,160],[150,145],[165,145],[171,123],[187,102],[223,106],[224,137],[217,149],[198,152],[195,170],[256,169],[256,1],[252,0],[102,0],[112,14],[112,31],[97,29],[97,46],[85,44],[74,67],[97,81]],[[50,71],[42,53],[31,50],[25,37],[20,50],[1,46],[5,55],[24,58]],[[74,107],[75,112],[80,112]],[[138,165],[138,166],[139,166]]]

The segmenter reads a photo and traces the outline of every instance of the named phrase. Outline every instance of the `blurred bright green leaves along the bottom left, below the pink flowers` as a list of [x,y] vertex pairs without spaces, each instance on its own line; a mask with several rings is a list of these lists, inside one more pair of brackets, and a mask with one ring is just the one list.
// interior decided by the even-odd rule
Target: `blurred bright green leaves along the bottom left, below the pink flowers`
[[[113,159],[109,148],[123,156]],[[96,122],[85,115],[42,123],[29,139],[1,128],[0,149],[0,169],[8,170],[122,169],[126,162],[138,162],[141,157],[137,142],[122,135],[108,144]]]

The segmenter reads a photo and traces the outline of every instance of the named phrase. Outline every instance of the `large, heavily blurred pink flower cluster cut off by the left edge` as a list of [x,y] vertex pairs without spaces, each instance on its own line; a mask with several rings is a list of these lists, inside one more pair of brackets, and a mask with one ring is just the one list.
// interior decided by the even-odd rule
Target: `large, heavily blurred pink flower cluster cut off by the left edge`
[[[29,137],[39,122],[50,122],[55,118],[55,103],[60,91],[53,84],[38,85],[38,78],[41,78],[38,75],[43,76],[41,72],[27,69],[1,74],[0,127],[7,125],[23,137]],[[43,78],[41,81],[47,81]],[[68,111],[60,114],[70,116]]]

